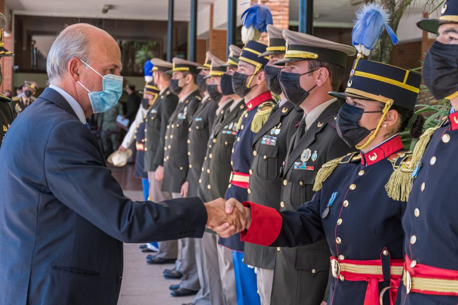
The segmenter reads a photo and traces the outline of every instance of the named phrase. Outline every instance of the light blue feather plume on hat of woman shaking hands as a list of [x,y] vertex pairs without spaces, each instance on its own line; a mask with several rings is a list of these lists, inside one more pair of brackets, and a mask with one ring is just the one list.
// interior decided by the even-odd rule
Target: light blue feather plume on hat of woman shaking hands
[[377,44],[383,28],[388,32],[393,44],[397,44],[395,31],[388,24],[389,21],[390,15],[387,10],[377,3],[365,4],[356,12],[351,36],[353,46],[359,53],[369,55],[370,50]]

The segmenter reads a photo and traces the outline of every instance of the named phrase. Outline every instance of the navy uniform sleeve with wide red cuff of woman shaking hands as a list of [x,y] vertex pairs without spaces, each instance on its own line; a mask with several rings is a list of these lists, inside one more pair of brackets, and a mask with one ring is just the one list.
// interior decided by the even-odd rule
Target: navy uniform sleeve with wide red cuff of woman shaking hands
[[314,244],[325,238],[319,213],[321,191],[296,211],[277,210],[244,202],[252,209],[250,229],[241,232],[241,240],[265,246],[296,247]]

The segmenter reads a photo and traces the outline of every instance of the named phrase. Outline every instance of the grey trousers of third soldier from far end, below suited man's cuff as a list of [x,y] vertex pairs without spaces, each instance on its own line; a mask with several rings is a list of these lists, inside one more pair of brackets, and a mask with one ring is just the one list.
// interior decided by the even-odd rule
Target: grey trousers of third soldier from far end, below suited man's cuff
[[[172,198],[182,198],[182,196],[180,193],[172,193]],[[180,288],[198,291],[200,289],[200,284],[199,275],[197,274],[195,239],[179,239],[178,252],[175,269],[183,274],[180,281]],[[181,266],[178,262],[180,259]]]

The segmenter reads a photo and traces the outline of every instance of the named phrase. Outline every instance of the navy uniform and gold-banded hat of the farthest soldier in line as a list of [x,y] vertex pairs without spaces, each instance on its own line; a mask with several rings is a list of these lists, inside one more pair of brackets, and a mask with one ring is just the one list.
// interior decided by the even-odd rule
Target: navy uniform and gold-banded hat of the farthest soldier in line
[[[147,92],[151,95],[154,96],[153,99],[153,104],[151,104],[147,111],[145,117],[142,119],[142,121],[139,122],[137,125],[137,128],[135,129],[135,148],[137,149],[136,155],[135,155],[135,167],[134,167],[134,177],[140,178],[140,179],[148,179],[148,173],[146,170],[144,170],[144,161],[145,161],[145,150],[147,151],[148,149],[145,146],[145,143],[147,141],[146,138],[146,120],[149,115],[149,111],[154,107],[158,100],[159,96],[159,89],[155,85],[153,85],[152,82],[146,83],[145,88],[143,89],[143,92]],[[144,107],[143,105],[140,107]],[[148,196],[146,196],[148,197]]]

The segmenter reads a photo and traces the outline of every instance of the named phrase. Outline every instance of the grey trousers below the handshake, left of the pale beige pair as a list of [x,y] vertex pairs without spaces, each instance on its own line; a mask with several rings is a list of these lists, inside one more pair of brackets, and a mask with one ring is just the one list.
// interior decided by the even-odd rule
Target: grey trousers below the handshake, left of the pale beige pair
[[201,289],[194,298],[194,305],[224,305],[220,265],[217,249],[218,235],[205,232],[196,240],[197,272]]

